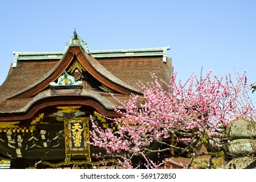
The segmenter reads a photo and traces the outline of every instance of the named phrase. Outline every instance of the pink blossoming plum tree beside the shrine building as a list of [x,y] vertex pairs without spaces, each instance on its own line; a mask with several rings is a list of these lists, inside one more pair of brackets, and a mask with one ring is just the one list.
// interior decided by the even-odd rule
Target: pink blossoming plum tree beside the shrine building
[[154,161],[150,153],[198,156],[197,148],[203,144],[210,151],[225,150],[227,125],[241,117],[255,120],[246,73],[236,75],[235,81],[230,75],[218,78],[212,70],[199,79],[192,74],[184,83],[177,81],[177,73],[171,75],[170,83],[158,81],[154,74],[152,78],[152,83],[137,84],[143,95],[131,95],[122,102],[113,94],[122,108],[115,109],[121,117],[107,119],[117,125],[117,131],[102,129],[91,118],[90,144],[118,157],[123,168],[136,167],[135,156],[144,159],[145,167],[158,168],[162,161]]

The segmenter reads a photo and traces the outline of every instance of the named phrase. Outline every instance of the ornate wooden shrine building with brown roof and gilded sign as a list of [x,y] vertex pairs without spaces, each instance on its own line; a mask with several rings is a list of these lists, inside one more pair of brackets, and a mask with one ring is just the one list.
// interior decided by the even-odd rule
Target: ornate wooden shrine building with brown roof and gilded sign
[[117,129],[99,115],[118,117],[111,94],[143,94],[136,83],[152,81],[150,73],[169,81],[169,49],[89,51],[74,34],[64,52],[14,52],[0,86],[0,160],[10,160],[10,168],[96,162],[92,153],[104,151],[87,144],[90,115]]

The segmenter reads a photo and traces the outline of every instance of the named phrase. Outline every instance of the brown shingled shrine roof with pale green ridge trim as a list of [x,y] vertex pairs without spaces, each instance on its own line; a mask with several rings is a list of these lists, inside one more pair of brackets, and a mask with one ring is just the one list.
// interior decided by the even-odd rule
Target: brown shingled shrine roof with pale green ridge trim
[[[136,83],[152,81],[150,73],[156,73],[160,79],[169,81],[169,49],[170,47],[158,47],[89,51],[86,42],[80,37],[74,42],[72,36],[63,52],[14,52],[14,62],[7,79],[0,86],[0,120],[12,113],[24,115],[32,105],[35,107],[36,103],[44,99],[56,98],[51,94],[50,83],[57,81],[75,62],[97,84],[113,90],[117,98],[128,99],[132,93],[143,94]],[[72,94],[63,96],[70,97]],[[79,97],[95,99],[107,110],[117,107],[117,101],[111,94],[102,90],[83,88]]]

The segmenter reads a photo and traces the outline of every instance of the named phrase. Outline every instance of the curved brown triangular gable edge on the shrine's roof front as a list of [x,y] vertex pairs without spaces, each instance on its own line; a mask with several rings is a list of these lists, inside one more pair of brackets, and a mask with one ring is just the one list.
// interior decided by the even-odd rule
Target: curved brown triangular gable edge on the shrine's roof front
[[[27,88],[21,89],[20,92],[11,96],[11,98],[29,98],[33,97],[42,90],[48,88],[51,82],[56,81],[58,77],[60,77],[63,72],[70,66],[72,61],[79,60],[80,64],[89,72],[94,79],[100,81],[100,83],[106,85],[107,87],[119,92],[121,94],[142,94],[140,90],[133,88],[132,86],[127,85],[117,77],[115,77],[112,73],[106,70],[96,59],[94,59],[91,55],[87,54],[82,50],[80,46],[70,46],[66,51],[66,54],[63,56],[61,60],[56,63],[53,68],[49,70],[41,70],[47,71],[45,74],[37,74],[36,81],[34,84],[27,85]],[[20,62],[22,65],[22,63]],[[48,62],[40,61],[37,64],[42,64],[45,68],[51,66]],[[19,65],[19,66],[21,66]],[[19,68],[19,66],[17,68]],[[17,69],[15,68],[15,69]],[[18,69],[17,69],[18,70]],[[29,83],[29,81],[28,81]]]

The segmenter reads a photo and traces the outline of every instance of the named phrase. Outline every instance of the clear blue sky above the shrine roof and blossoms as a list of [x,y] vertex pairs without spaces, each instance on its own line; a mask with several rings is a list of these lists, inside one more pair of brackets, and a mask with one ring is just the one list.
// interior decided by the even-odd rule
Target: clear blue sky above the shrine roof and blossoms
[[1,1],[0,85],[12,51],[64,51],[74,28],[89,50],[171,45],[178,78],[212,69],[256,81],[256,1]]

